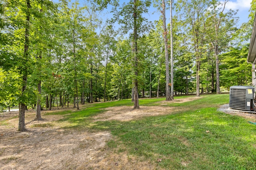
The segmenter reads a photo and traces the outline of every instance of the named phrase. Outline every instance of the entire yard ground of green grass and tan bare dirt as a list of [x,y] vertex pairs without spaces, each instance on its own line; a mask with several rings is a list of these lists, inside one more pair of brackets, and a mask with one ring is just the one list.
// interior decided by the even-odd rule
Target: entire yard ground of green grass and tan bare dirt
[[[255,125],[248,123],[248,120],[252,119],[218,111],[218,107],[228,103],[228,98],[228,94],[215,94],[203,95],[200,98],[180,96],[175,97],[174,102],[166,102],[165,98],[142,99],[140,109],[135,110],[132,109],[131,100],[120,100],[85,104],[85,107],[80,107],[80,111],[48,111],[42,113],[47,121],[27,123],[30,131],[24,133],[24,137],[18,134],[2,136],[0,156],[3,159],[0,164],[5,169],[19,169],[26,166],[26,162],[30,167],[39,169],[255,169]],[[154,107],[157,109],[146,115],[148,108]],[[113,112],[113,108],[121,109],[112,115],[114,118],[108,117],[108,110]],[[143,117],[129,119],[139,110],[142,110],[139,115]],[[127,111],[132,113],[126,113]],[[121,119],[118,118],[120,114],[123,114]],[[49,121],[52,117],[55,117],[55,120]],[[1,121],[1,129],[5,127],[5,130],[14,130],[14,119],[18,118],[9,117]],[[86,136],[84,132],[87,133]],[[102,134],[109,132],[112,137],[107,137],[106,146],[92,149],[92,143],[97,143],[97,134],[103,140]],[[66,136],[65,143],[61,140],[63,134]],[[74,139],[69,140],[70,135],[73,135]],[[40,140],[42,136],[44,138]],[[82,140],[83,138],[86,140]],[[13,146],[6,148],[5,144],[10,145],[10,139]],[[44,146],[44,151],[24,148],[24,140],[29,145],[35,140],[37,145],[44,145],[48,143],[46,141],[61,143],[61,146],[69,145],[68,148],[74,153],[66,152],[71,155],[68,162],[69,158],[66,158],[63,151],[68,148],[62,147],[61,150],[56,144],[55,147],[59,150],[59,154],[56,154],[56,149],[50,148],[52,145]],[[51,149],[52,151],[49,151]],[[12,154],[16,152],[18,155]],[[33,160],[22,157],[24,161],[21,162],[19,156],[30,152],[34,155]],[[84,156],[79,157],[76,152],[81,152]],[[90,155],[92,152],[101,154]],[[42,158],[36,156],[40,154],[43,155]],[[53,158],[58,159],[54,164],[49,162]],[[63,162],[64,159],[66,163]],[[57,162],[62,162],[61,166]]]

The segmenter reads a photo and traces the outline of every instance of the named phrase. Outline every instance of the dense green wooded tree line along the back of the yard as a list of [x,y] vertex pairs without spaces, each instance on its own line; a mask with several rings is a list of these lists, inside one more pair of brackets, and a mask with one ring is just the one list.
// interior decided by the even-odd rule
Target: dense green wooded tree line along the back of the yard
[[[168,8],[170,1],[84,2],[1,1],[1,107],[20,105],[22,120],[26,106],[36,107],[40,120],[43,108],[166,96],[165,35],[169,56],[171,48],[163,4]],[[174,95],[199,96],[251,84],[246,58],[256,2],[242,25],[226,2],[173,2],[174,83],[169,86]],[[162,13],[154,23],[144,15],[150,6]],[[102,17],[106,10],[113,14],[107,21]],[[21,121],[19,130],[24,129]]]

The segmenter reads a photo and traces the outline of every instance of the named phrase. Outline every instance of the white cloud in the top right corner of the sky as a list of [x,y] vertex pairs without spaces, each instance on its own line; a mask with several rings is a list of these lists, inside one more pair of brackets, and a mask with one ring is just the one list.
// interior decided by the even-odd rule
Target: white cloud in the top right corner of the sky
[[[221,0],[220,2],[224,2]],[[232,10],[249,10],[251,7],[252,0],[230,0],[226,4],[226,9],[232,9]]]

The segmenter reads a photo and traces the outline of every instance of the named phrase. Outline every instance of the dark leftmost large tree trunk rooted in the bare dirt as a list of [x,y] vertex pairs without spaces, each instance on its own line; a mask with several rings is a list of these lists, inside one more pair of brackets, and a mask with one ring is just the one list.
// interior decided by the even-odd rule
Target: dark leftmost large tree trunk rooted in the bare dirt
[[[25,25],[25,44],[24,44],[24,60],[23,65],[25,68],[22,69],[22,97],[24,96],[24,91],[27,88],[27,76],[28,76],[28,68],[26,68],[28,62],[28,45],[29,45],[29,29],[30,29],[30,0],[26,0],[26,25]],[[20,112],[19,112],[19,124],[18,124],[18,131],[26,131],[25,125],[25,110],[26,104],[24,100],[20,102]]]

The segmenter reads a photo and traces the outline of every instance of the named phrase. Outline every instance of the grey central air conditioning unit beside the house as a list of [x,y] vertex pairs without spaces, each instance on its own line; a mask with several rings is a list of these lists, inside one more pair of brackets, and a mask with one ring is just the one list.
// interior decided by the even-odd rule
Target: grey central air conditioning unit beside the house
[[252,111],[255,104],[255,88],[252,86],[231,86],[229,107],[232,109]]

